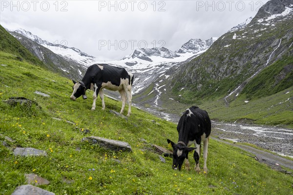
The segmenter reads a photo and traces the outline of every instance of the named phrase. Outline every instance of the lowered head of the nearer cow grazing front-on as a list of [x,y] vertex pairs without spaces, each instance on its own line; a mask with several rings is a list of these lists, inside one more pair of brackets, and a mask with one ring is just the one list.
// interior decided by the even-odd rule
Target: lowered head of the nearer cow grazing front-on
[[168,143],[171,143],[173,148],[173,165],[172,168],[174,170],[179,169],[181,170],[182,164],[185,158],[188,158],[188,153],[194,150],[195,148],[188,148],[185,144],[175,144],[170,139],[167,139]]

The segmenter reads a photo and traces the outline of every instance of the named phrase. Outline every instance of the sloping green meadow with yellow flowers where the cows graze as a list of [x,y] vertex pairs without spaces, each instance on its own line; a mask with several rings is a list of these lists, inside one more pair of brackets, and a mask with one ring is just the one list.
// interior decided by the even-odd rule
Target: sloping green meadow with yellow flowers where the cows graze
[[[39,187],[56,195],[293,194],[292,176],[273,171],[248,156],[251,154],[212,139],[208,174],[194,171],[193,154],[189,154],[190,171],[174,171],[172,159],[165,157],[166,163],[161,162],[151,144],[171,149],[167,138],[177,141],[176,124],[135,107],[128,120],[117,117],[109,110],[119,112],[121,101],[110,98],[105,98],[105,110],[98,99],[96,110],[91,111],[92,92],[87,92],[86,100],[70,100],[71,80],[4,52],[0,52],[0,64],[6,65],[0,65],[0,133],[16,140],[6,141],[9,148],[0,144],[1,195],[10,195],[17,186],[26,184],[24,174],[30,173],[48,179],[49,185]],[[13,107],[3,102],[10,97],[29,98],[38,105]],[[124,115],[126,112],[127,106]],[[85,135],[86,129],[90,133]],[[83,142],[88,136],[126,141],[133,151],[105,150]],[[14,156],[15,147],[41,149],[48,156]],[[201,169],[202,165],[201,156]]]

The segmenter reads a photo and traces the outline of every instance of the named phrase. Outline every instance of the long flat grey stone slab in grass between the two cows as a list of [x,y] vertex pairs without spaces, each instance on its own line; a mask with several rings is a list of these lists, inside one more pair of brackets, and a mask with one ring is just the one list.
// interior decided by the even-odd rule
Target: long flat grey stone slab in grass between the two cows
[[118,141],[118,140],[113,140],[113,139],[107,139],[103,137],[84,137],[82,141],[89,141],[92,144],[99,144],[101,147],[113,151],[122,151],[122,152],[127,152],[127,151],[132,151],[131,146],[124,141]]

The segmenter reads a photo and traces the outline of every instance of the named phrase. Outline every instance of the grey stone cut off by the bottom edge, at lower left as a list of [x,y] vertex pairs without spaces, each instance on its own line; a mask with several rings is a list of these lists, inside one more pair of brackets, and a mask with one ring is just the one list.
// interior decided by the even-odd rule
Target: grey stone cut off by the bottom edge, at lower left
[[11,195],[55,195],[52,192],[43,190],[33,185],[18,186]]

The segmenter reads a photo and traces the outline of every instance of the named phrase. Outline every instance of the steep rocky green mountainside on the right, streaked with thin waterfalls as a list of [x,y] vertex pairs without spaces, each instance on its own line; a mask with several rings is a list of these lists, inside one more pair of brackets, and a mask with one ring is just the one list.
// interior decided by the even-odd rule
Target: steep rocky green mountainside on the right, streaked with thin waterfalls
[[[267,2],[246,27],[226,33],[201,56],[170,70],[175,72],[167,78],[173,98],[191,103],[224,97],[228,105],[241,92],[249,98],[264,97],[292,85],[291,2]],[[268,83],[265,72],[260,74],[267,67],[272,78]],[[260,89],[265,93],[254,96]]]

